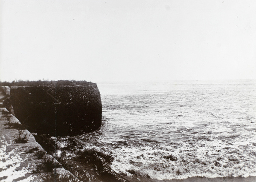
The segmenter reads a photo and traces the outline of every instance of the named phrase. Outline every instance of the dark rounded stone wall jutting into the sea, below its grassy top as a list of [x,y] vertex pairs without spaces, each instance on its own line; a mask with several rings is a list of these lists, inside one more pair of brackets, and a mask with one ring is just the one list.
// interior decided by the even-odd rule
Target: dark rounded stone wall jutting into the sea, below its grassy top
[[31,132],[53,136],[95,131],[102,123],[96,84],[83,86],[12,87],[9,105]]

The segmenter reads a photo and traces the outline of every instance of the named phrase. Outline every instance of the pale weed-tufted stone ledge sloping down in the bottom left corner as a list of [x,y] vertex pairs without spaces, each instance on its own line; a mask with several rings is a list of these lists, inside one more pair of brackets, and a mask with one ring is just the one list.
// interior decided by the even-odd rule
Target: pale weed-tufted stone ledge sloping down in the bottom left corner
[[0,181],[79,181],[47,154],[6,108],[0,108]]

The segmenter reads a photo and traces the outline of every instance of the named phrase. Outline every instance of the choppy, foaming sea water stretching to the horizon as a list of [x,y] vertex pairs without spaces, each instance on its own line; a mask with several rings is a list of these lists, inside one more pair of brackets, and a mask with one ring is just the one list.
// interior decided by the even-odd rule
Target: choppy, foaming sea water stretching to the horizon
[[154,179],[256,176],[256,81],[98,83],[99,131],[77,136],[112,168]]

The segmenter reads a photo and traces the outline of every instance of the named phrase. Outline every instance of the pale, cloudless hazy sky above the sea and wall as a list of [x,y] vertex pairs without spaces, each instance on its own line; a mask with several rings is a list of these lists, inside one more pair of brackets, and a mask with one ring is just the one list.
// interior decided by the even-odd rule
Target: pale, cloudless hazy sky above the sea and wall
[[0,0],[0,79],[256,79],[255,0]]

